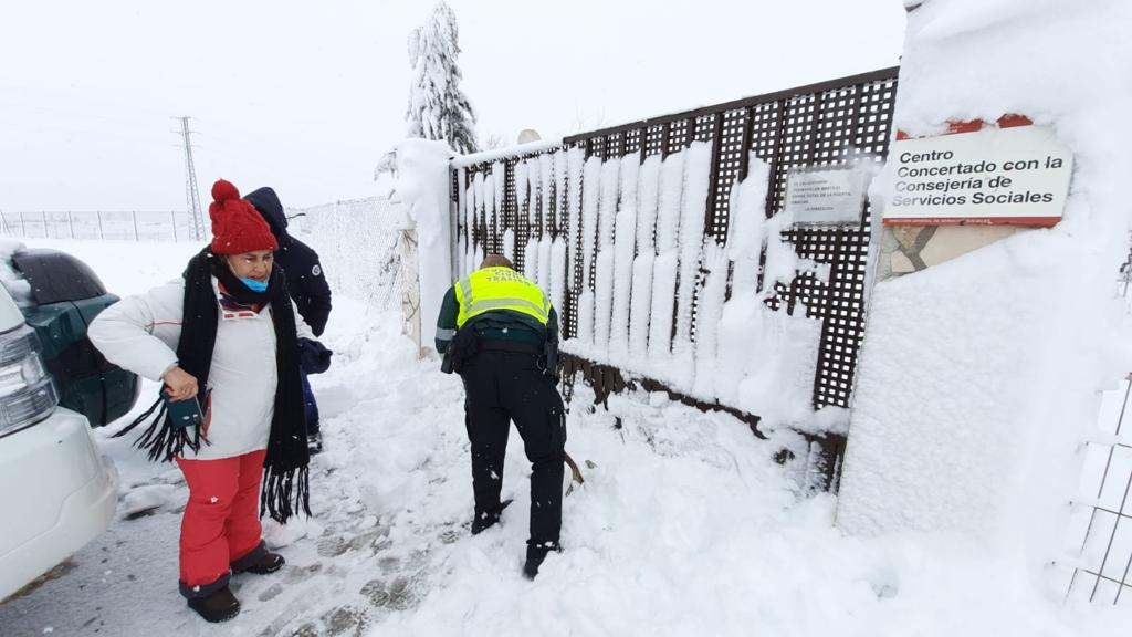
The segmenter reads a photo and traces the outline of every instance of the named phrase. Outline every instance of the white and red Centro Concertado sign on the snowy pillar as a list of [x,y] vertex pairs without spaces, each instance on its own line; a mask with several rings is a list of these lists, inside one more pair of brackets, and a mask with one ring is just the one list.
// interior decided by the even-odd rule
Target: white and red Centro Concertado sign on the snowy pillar
[[889,160],[885,226],[1054,226],[1073,171],[1053,129],[1018,116],[957,124],[938,137],[898,134]]

